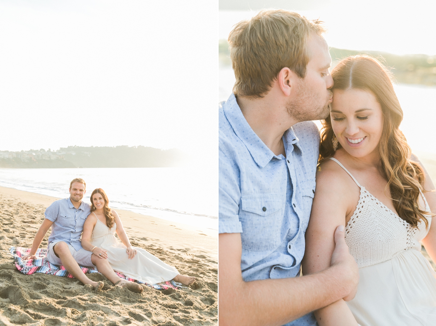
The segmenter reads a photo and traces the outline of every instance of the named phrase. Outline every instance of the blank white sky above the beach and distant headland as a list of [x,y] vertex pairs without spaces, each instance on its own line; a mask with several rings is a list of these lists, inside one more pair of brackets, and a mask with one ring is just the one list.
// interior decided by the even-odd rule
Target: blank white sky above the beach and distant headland
[[218,2],[0,0],[0,150],[217,151]]

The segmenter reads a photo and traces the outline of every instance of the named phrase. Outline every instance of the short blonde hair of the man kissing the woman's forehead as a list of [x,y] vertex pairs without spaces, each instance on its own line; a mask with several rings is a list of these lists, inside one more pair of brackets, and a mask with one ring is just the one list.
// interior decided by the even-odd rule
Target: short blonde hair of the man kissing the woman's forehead
[[287,10],[262,10],[236,24],[228,36],[236,77],[233,93],[263,97],[284,67],[304,78],[310,59],[306,40],[311,32],[325,32],[320,20]]

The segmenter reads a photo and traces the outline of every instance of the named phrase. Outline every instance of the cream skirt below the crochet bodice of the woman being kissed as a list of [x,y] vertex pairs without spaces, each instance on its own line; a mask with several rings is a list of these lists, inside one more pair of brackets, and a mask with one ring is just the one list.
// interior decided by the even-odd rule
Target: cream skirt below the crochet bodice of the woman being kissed
[[359,268],[358,291],[348,307],[361,326],[434,326],[435,274],[421,252],[405,250]]

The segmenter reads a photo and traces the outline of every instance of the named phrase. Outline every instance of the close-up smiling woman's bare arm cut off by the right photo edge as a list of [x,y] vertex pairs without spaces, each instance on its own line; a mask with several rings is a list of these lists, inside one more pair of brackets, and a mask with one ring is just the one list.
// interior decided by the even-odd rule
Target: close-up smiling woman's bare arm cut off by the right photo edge
[[[411,159],[413,161],[418,162],[422,169],[424,170],[424,173],[426,174],[426,182],[424,184],[424,196],[427,199],[427,202],[430,206],[430,211],[433,214],[436,214],[436,192],[435,192],[435,185],[433,184],[432,179],[430,178],[426,168],[422,163],[419,161],[419,159],[412,154]],[[433,217],[435,218],[435,217]],[[432,218],[432,220],[433,220]],[[435,223],[433,223],[435,222]],[[433,262],[436,263],[436,221],[432,221],[430,224],[429,233],[427,233],[426,237],[422,239],[422,244],[426,248],[426,252],[429,254],[430,258],[433,260]]]

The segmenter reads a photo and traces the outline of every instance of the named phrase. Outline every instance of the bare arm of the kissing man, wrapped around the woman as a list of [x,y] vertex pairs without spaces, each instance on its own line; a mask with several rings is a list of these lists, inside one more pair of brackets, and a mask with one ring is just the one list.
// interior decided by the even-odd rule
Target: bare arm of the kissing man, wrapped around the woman
[[221,233],[218,240],[220,325],[279,326],[354,293],[358,267],[348,253],[343,229],[338,229],[334,233],[336,248],[330,268],[303,277],[251,282],[242,279],[240,233]]

